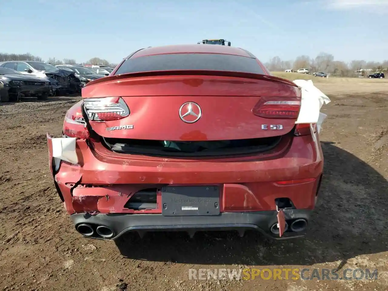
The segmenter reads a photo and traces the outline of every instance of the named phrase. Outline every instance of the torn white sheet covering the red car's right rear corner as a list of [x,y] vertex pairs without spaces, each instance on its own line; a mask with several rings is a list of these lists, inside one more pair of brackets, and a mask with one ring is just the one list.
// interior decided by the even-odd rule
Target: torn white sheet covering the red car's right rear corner
[[330,102],[321,90],[314,86],[312,80],[294,80],[301,88],[302,98],[298,119],[295,123],[317,123],[317,131],[320,132],[321,125],[327,115],[320,112],[323,104]]

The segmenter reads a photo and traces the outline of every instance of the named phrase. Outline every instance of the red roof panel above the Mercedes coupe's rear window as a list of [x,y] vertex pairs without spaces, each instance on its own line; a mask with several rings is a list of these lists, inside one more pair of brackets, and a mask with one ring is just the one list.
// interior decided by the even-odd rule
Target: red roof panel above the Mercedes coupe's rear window
[[148,47],[135,52],[129,57],[145,57],[147,55],[161,55],[161,54],[227,54],[239,55],[241,57],[254,57],[246,50],[238,47],[227,47],[224,45],[165,45],[162,47]]

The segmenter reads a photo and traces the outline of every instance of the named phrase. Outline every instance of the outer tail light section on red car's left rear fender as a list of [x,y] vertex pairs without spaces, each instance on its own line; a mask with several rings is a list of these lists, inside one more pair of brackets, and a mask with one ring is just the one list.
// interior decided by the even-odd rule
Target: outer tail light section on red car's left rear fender
[[86,122],[82,117],[80,109],[76,111],[69,110],[66,113],[62,131],[67,137],[76,137],[77,139],[89,138]]

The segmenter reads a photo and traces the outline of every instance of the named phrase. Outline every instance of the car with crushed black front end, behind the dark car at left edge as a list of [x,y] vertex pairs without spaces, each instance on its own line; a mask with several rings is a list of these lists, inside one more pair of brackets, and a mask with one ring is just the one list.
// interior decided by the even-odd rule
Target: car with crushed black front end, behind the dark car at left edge
[[51,85],[50,95],[74,94],[80,92],[80,80],[74,72],[58,69],[47,62],[5,61],[0,67],[14,69],[27,76],[48,80]]

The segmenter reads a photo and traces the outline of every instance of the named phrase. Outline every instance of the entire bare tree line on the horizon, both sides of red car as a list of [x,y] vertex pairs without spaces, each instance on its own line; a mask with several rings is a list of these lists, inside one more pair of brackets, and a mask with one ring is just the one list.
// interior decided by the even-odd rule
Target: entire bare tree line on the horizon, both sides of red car
[[[2,61],[43,61],[41,57],[26,54],[6,54],[0,53],[0,62]],[[111,68],[116,67],[117,64],[112,64],[105,59],[100,59],[99,57],[94,57],[87,62],[78,63],[75,59],[56,59],[55,57],[50,57],[47,60],[48,63],[53,65],[58,64],[102,64],[110,66]],[[283,61],[280,57],[273,57],[269,62],[265,63],[265,66],[268,70],[272,72],[276,71],[285,71],[287,69],[302,69],[307,68],[312,72],[323,72],[331,73],[343,77],[352,77],[358,76],[359,74],[355,73],[357,71],[362,71],[365,69],[371,69],[374,71],[380,71],[388,73],[388,60],[383,62],[367,62],[364,60],[353,60],[349,63],[343,61],[336,61],[332,54],[327,54],[321,52],[315,58],[311,58],[308,55],[300,55],[292,61]]]

